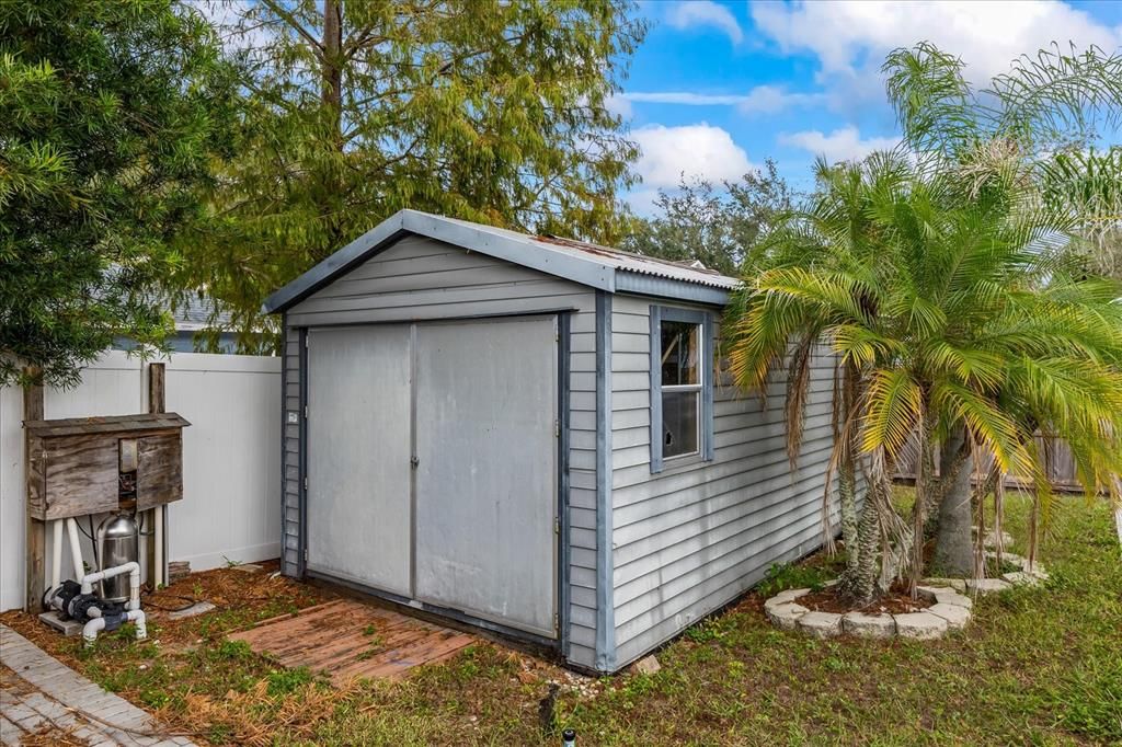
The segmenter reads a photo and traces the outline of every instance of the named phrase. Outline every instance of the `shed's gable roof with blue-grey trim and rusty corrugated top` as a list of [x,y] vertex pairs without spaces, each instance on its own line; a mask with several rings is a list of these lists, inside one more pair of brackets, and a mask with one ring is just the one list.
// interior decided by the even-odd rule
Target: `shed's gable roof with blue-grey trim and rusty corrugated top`
[[736,278],[684,262],[402,210],[270,295],[264,311],[275,313],[293,306],[406,234],[443,241],[608,293],[622,290],[723,306],[728,292],[738,284]]

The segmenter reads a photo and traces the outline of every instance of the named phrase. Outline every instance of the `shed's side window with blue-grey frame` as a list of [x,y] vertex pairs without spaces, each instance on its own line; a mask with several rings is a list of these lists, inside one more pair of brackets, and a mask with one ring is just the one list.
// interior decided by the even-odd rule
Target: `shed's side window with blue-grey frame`
[[712,459],[712,321],[651,307],[651,471],[669,460]]

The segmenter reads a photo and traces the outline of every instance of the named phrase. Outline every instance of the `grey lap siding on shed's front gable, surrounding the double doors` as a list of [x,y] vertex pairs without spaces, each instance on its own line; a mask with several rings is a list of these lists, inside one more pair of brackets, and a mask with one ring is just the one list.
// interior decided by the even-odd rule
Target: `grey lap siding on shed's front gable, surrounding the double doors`
[[[432,239],[404,237],[287,311],[285,367],[294,374],[286,385],[285,407],[292,402],[293,408],[298,407],[295,328],[550,311],[570,314],[568,657],[590,667],[596,646],[595,290]],[[286,426],[285,454],[285,573],[296,574],[298,430],[294,426]]]

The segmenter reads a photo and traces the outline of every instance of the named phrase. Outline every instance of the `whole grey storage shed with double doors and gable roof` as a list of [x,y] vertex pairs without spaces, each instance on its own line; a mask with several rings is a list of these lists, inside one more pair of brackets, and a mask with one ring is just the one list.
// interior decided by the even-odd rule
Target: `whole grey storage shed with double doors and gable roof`
[[402,211],[270,296],[286,574],[614,672],[817,547],[833,361],[802,453],[783,382],[715,356],[700,266]]

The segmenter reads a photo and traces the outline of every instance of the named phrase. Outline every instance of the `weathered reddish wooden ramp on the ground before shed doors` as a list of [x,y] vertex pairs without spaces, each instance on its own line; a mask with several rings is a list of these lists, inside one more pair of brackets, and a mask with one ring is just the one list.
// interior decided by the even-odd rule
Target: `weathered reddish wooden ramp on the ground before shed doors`
[[475,636],[388,609],[338,599],[233,633],[288,667],[323,672],[341,685],[352,677],[396,679],[475,643]]

